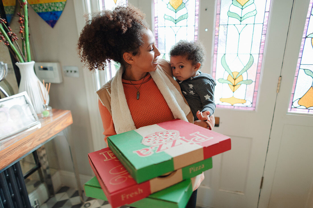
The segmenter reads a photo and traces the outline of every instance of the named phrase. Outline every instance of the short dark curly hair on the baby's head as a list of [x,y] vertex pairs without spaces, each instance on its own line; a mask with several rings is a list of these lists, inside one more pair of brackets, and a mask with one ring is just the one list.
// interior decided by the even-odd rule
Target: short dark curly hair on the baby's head
[[188,42],[186,40],[180,40],[174,46],[172,46],[170,52],[171,56],[186,56],[187,60],[192,61],[192,65],[201,63],[201,67],[205,61],[205,49],[201,42]]

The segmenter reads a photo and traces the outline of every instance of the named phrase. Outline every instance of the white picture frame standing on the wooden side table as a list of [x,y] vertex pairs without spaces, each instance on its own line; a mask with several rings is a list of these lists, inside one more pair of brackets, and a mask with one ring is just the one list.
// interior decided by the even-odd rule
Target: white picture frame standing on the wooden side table
[[27,92],[0,99],[0,141],[40,124]]

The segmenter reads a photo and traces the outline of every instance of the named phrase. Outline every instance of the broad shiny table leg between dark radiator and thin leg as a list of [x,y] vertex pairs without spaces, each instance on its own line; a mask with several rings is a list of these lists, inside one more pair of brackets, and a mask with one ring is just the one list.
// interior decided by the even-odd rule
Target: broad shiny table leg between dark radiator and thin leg
[[51,174],[50,174],[50,169],[49,169],[49,162],[47,160],[46,148],[44,147],[44,145],[37,149],[37,154],[38,154],[38,160],[41,165],[41,169],[44,174],[44,182],[47,186],[49,197],[54,196],[54,189],[53,189],[53,184],[52,184],[52,179],[51,179]]

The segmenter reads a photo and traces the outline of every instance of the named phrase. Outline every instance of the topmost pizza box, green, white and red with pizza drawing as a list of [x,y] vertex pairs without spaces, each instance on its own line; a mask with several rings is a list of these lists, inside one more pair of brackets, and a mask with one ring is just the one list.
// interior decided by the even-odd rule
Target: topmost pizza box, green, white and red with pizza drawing
[[228,136],[180,119],[109,136],[108,144],[137,183],[231,149]]

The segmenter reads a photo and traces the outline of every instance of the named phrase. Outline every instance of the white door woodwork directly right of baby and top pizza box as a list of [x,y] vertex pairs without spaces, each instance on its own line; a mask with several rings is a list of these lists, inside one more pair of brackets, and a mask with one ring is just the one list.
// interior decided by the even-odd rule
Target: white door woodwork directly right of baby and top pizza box
[[[214,28],[208,25],[212,19],[208,10],[213,9],[214,3],[200,2],[199,39],[202,41],[213,39],[212,36],[207,38],[204,31],[205,28]],[[205,172],[205,179],[198,189],[199,205],[240,208],[258,206],[292,4],[292,0],[271,2],[256,109],[217,108],[214,113],[220,117],[219,127],[215,127],[214,131],[230,136],[232,149],[213,157],[213,169]],[[208,57],[213,57],[212,54],[208,51]],[[209,68],[206,72],[211,73]]]

